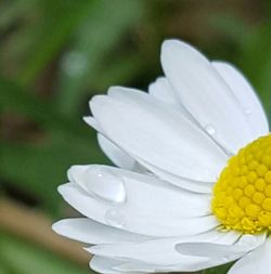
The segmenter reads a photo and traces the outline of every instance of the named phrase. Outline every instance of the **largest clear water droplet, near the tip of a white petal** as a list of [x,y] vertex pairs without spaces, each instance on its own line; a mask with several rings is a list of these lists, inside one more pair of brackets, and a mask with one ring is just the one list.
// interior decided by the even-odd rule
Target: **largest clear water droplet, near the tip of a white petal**
[[85,171],[83,179],[88,192],[113,203],[125,201],[126,190],[122,178],[113,170],[90,167]]

